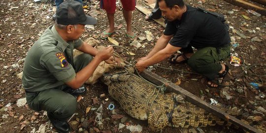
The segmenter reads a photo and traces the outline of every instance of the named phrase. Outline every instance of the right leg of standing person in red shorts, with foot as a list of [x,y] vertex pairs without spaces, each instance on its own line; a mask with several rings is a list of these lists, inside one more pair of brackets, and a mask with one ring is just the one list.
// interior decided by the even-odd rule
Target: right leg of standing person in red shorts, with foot
[[121,0],[123,5],[123,15],[127,24],[127,36],[131,39],[137,39],[137,36],[132,31],[132,11],[135,9],[135,0]]

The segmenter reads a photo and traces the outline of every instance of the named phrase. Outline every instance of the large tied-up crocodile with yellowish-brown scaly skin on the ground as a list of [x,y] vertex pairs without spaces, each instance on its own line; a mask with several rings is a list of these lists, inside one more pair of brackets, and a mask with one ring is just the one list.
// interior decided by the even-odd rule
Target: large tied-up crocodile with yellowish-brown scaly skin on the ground
[[[124,111],[138,120],[148,120],[151,131],[158,132],[166,126],[197,128],[224,125],[225,121],[175,93],[162,94],[156,87],[133,74],[133,67],[116,68],[101,77],[108,86],[109,95],[119,102]],[[230,115],[239,114],[234,108],[217,107]]]

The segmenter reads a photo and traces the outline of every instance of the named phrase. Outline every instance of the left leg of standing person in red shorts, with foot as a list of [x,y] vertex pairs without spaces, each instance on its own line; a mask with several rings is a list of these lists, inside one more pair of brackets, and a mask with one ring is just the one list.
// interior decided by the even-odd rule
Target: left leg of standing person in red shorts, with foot
[[109,27],[107,30],[100,34],[101,39],[106,39],[112,33],[114,33],[114,13],[115,13],[115,4],[116,0],[100,0],[100,8],[106,10],[107,19]]

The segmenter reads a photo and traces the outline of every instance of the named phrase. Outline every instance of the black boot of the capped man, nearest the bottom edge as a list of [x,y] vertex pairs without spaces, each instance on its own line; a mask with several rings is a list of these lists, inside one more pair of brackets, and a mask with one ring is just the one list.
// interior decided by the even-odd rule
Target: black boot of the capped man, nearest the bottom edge
[[50,113],[47,113],[48,118],[50,119],[52,125],[59,133],[69,133],[70,126],[67,121],[61,121],[51,116]]

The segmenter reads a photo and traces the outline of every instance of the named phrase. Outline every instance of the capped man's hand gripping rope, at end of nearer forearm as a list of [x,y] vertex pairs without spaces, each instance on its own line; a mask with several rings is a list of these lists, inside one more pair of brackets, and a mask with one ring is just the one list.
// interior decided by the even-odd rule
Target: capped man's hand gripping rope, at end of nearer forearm
[[113,53],[113,47],[108,46],[99,50],[95,58],[99,58],[101,61],[108,60],[113,55]]

